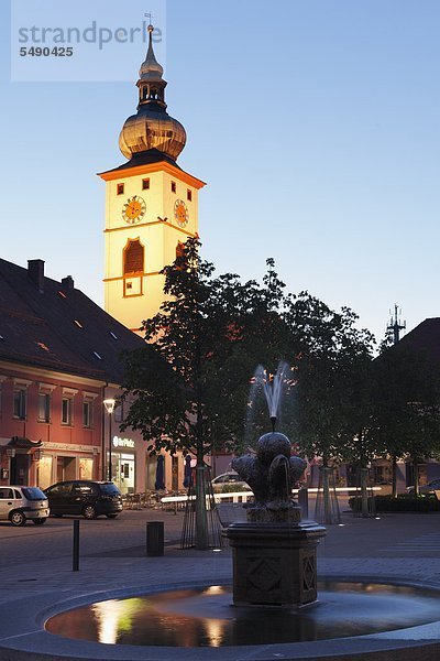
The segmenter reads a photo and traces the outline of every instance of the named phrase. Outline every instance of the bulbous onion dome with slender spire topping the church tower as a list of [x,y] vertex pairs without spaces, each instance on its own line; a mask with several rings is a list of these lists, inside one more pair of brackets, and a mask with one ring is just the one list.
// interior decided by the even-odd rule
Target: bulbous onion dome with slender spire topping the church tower
[[186,143],[182,123],[166,111],[164,69],[153,51],[153,25],[148,25],[148,51],[139,71],[139,106],[122,127],[119,137],[121,152],[128,159],[157,149],[175,161]]

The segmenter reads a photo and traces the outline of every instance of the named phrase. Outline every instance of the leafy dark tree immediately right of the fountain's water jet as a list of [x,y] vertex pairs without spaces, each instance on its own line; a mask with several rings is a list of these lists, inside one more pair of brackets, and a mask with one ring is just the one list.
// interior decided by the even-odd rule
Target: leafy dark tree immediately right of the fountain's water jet
[[[329,466],[346,458],[359,433],[373,336],[356,328],[358,316],[350,308],[336,313],[310,297],[293,301],[290,319],[304,343],[297,371],[297,435],[308,456],[322,457],[324,519],[331,523]],[[359,441],[360,449],[362,434]],[[360,460],[365,463],[364,453]]]

